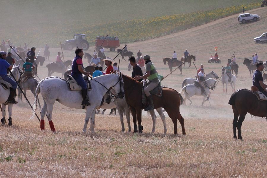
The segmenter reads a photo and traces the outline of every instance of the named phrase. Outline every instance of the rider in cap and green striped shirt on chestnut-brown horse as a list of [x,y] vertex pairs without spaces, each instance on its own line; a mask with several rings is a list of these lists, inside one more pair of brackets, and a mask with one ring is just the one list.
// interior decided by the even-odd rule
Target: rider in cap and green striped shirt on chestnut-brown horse
[[147,68],[147,73],[140,77],[134,77],[134,79],[139,80],[139,79],[147,78],[149,80],[149,84],[144,88],[144,93],[147,96],[148,104],[149,104],[148,107],[145,108],[144,110],[149,111],[149,110],[154,109],[153,98],[149,92],[158,86],[159,80],[158,80],[157,70],[154,64],[150,61],[150,56],[144,55],[144,60],[146,61],[145,64]]

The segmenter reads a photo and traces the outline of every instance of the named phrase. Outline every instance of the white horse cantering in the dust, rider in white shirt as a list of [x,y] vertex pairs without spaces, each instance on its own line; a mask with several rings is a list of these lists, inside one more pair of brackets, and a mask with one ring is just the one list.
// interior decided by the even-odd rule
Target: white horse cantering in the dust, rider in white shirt
[[[204,104],[205,101],[208,101],[208,97],[209,95],[209,89],[213,90],[215,87],[217,80],[214,80],[212,78],[208,79],[205,81],[206,85],[208,87],[205,87],[205,95],[203,96],[203,101],[202,101],[202,106]],[[194,95],[198,95],[198,96],[202,96],[201,93],[201,88],[197,88],[194,84],[188,84],[186,86],[184,86],[182,88],[181,91],[179,91],[179,93],[184,92],[185,93],[185,98],[188,99],[190,101],[190,105],[193,103],[190,98]],[[206,99],[206,100],[205,100]]]

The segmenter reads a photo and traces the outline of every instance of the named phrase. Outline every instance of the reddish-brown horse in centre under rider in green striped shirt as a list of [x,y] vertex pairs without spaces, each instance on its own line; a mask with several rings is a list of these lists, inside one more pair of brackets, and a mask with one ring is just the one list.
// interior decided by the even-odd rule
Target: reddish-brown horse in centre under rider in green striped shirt
[[[146,106],[142,104],[142,87],[143,84],[126,75],[123,76],[123,89],[128,106],[130,107],[134,121],[134,132],[137,132],[136,116],[138,121],[139,133],[142,133],[142,109]],[[184,118],[180,114],[180,104],[183,104],[184,99],[181,94],[171,88],[163,88],[163,96],[158,97],[153,95],[154,108],[163,107],[174,124],[174,134],[177,134],[177,120],[182,126],[182,134],[185,135]]]

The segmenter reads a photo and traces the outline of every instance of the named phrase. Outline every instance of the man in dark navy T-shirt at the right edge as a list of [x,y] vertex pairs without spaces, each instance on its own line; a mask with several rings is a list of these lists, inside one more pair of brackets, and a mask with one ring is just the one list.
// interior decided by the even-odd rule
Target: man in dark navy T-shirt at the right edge
[[252,76],[253,86],[257,87],[260,92],[264,93],[267,96],[267,85],[263,83],[263,78],[261,72],[264,69],[263,62],[258,62],[256,64],[257,70],[254,72]]

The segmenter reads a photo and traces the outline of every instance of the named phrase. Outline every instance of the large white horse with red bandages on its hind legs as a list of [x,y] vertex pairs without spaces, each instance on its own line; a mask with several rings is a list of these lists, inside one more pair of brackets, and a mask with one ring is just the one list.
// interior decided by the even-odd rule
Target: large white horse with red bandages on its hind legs
[[[87,92],[87,96],[91,105],[85,107],[86,116],[83,132],[86,132],[89,118],[91,118],[91,125],[94,124],[96,108],[100,106],[102,98],[109,90],[109,88],[113,88],[116,93],[118,93],[117,97],[123,98],[124,96],[123,80],[121,77],[121,73],[119,75],[101,75],[99,77],[93,78],[93,80],[91,80],[90,82],[92,89]],[[48,77],[46,79],[41,80],[36,88],[34,110],[31,118],[34,117],[37,109],[36,105],[39,93],[42,94],[44,100],[44,106],[42,107],[41,111],[41,130],[45,129],[44,117],[46,114],[46,117],[49,120],[50,128],[53,132],[55,132],[55,127],[52,122],[52,111],[55,101],[58,101],[64,106],[70,108],[80,109],[82,107],[81,91],[70,91],[66,81],[64,81],[63,79],[57,77]],[[91,127],[91,131],[94,132],[93,127]]]

